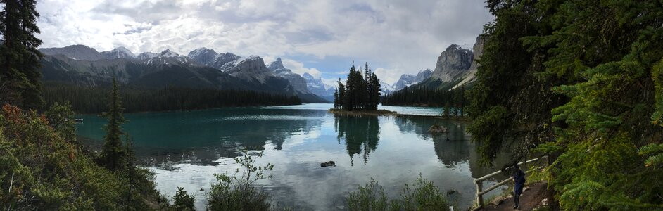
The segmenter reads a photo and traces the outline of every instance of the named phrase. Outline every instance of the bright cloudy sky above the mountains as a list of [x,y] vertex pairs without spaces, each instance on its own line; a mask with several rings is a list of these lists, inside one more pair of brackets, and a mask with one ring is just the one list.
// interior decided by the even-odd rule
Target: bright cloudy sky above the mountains
[[42,0],[42,47],[257,55],[332,83],[368,62],[389,84],[435,68],[450,44],[471,49],[493,17],[484,0]]

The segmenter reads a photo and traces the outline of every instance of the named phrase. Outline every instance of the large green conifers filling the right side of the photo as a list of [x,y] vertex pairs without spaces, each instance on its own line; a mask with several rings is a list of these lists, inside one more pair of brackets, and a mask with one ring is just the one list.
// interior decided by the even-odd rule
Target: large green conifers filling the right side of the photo
[[564,210],[662,209],[663,1],[487,1],[467,96],[488,163],[543,153]]

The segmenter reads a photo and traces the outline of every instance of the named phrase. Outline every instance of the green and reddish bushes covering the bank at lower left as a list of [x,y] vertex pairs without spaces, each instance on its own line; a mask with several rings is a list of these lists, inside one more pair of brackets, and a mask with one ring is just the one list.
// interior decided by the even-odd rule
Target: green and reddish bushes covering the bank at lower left
[[153,210],[153,174],[110,172],[63,139],[44,115],[0,110],[0,210]]

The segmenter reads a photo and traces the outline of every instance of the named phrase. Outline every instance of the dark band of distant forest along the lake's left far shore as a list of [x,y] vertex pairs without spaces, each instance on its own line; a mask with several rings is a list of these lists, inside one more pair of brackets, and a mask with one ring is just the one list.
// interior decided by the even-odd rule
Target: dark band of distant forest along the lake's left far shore
[[[54,102],[71,103],[77,113],[102,113],[108,110],[110,87],[82,87],[73,84],[45,82],[43,96],[46,105]],[[125,112],[195,110],[233,106],[298,105],[297,96],[286,96],[247,90],[219,90],[187,87],[161,89],[121,87],[120,96]]]

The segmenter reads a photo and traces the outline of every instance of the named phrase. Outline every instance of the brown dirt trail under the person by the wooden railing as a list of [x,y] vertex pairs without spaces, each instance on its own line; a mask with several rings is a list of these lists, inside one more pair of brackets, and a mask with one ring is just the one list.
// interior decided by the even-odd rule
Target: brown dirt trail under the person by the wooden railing
[[[520,195],[520,209],[519,210],[533,210],[541,206],[541,200],[545,198],[545,190],[548,188],[547,183],[537,182],[525,186],[526,190]],[[490,202],[488,202],[490,203]],[[514,210],[513,197],[505,198],[502,203],[495,206],[493,204],[485,205],[483,210]]]

